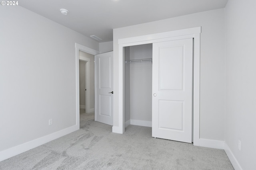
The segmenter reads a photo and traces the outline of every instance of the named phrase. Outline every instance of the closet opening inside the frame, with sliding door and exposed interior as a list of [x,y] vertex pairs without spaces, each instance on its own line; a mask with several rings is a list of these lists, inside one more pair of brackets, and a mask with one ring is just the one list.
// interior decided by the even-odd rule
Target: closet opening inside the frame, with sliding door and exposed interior
[[193,39],[127,46],[124,59],[126,127],[191,143]]

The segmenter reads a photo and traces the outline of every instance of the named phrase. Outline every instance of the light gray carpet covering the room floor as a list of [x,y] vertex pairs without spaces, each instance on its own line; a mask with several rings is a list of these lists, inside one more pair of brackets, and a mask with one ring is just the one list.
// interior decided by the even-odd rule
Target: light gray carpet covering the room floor
[[81,129],[0,162],[1,170],[233,170],[224,150],[154,139],[150,127],[124,134],[80,115]]

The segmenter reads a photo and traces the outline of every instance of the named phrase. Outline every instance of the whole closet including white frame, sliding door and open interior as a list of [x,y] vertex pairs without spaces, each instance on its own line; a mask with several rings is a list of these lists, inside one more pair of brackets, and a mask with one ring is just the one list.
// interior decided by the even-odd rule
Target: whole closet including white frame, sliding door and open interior
[[[118,39],[119,125],[113,126],[113,132],[124,133],[129,124],[150,126],[152,122],[152,137],[186,143],[194,137],[199,145],[200,33],[201,27],[193,27]],[[140,55],[149,46],[152,70],[150,62],[137,63],[151,59]],[[136,67],[146,63],[148,67]],[[152,74],[152,82],[147,73]]]

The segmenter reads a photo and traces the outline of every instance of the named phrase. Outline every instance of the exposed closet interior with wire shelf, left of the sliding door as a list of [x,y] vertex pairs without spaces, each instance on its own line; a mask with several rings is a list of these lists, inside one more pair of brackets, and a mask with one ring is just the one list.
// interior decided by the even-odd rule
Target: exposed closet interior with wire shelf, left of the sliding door
[[125,47],[125,127],[152,127],[152,43]]

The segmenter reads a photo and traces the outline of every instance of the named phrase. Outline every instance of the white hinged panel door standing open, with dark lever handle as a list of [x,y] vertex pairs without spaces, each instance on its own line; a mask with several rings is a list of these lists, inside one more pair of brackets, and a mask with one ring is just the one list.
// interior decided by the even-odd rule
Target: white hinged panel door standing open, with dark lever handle
[[113,125],[113,51],[95,56],[95,121]]

